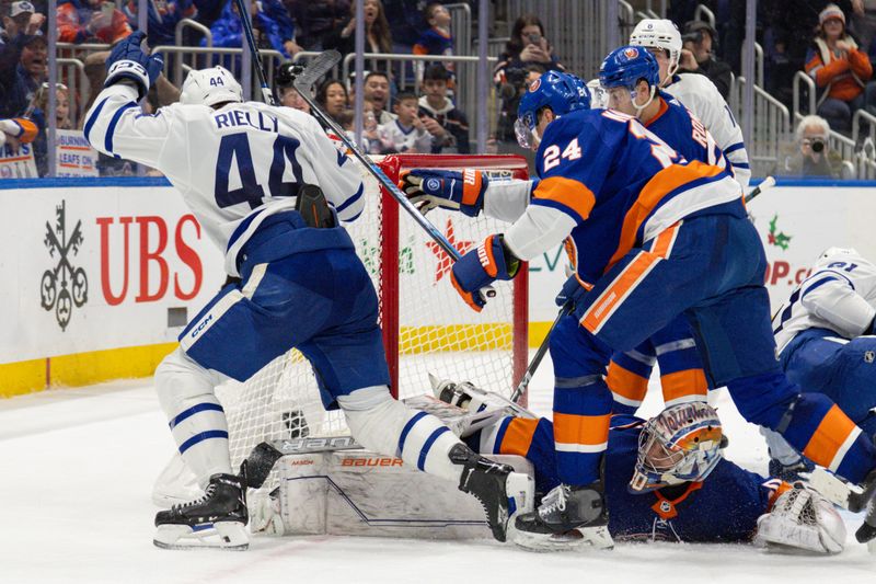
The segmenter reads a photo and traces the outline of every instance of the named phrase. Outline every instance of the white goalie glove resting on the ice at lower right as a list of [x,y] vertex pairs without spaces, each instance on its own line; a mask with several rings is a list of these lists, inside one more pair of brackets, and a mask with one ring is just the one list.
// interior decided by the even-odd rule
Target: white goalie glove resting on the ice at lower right
[[833,504],[815,491],[795,486],[758,518],[754,543],[773,551],[840,553],[845,524]]

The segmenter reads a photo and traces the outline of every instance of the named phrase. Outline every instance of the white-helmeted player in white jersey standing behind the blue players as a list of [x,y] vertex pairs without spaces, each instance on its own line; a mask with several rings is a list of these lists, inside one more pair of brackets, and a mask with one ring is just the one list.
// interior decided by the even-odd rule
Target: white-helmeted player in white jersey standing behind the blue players
[[704,75],[677,75],[681,55],[681,33],[670,20],[645,19],[636,24],[630,44],[653,49],[660,66],[660,85],[677,98],[705,125],[733,167],[734,176],[748,187],[751,179],[742,129],[715,84]]

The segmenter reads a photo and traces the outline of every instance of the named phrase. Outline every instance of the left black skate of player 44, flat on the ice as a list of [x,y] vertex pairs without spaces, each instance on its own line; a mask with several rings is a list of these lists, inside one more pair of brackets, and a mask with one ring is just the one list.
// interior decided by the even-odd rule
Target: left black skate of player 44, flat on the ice
[[204,496],[155,515],[158,529],[152,541],[164,549],[242,551],[250,547],[247,519],[245,479],[235,474],[214,474]]

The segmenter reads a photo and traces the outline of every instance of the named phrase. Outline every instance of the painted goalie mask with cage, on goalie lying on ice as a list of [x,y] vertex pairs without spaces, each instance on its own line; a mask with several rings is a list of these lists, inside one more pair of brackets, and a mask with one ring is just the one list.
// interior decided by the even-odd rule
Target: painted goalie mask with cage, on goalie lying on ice
[[630,491],[643,493],[671,484],[702,482],[725,446],[717,412],[702,402],[667,408],[645,424]]

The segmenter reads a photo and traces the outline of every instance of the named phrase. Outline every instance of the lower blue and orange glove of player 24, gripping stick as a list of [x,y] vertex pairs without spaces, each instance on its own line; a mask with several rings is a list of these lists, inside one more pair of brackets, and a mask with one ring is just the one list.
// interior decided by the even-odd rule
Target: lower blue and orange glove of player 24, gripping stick
[[511,279],[520,268],[520,260],[505,247],[502,234],[489,236],[477,248],[453,264],[450,282],[473,310],[486,306],[481,288],[497,279]]

